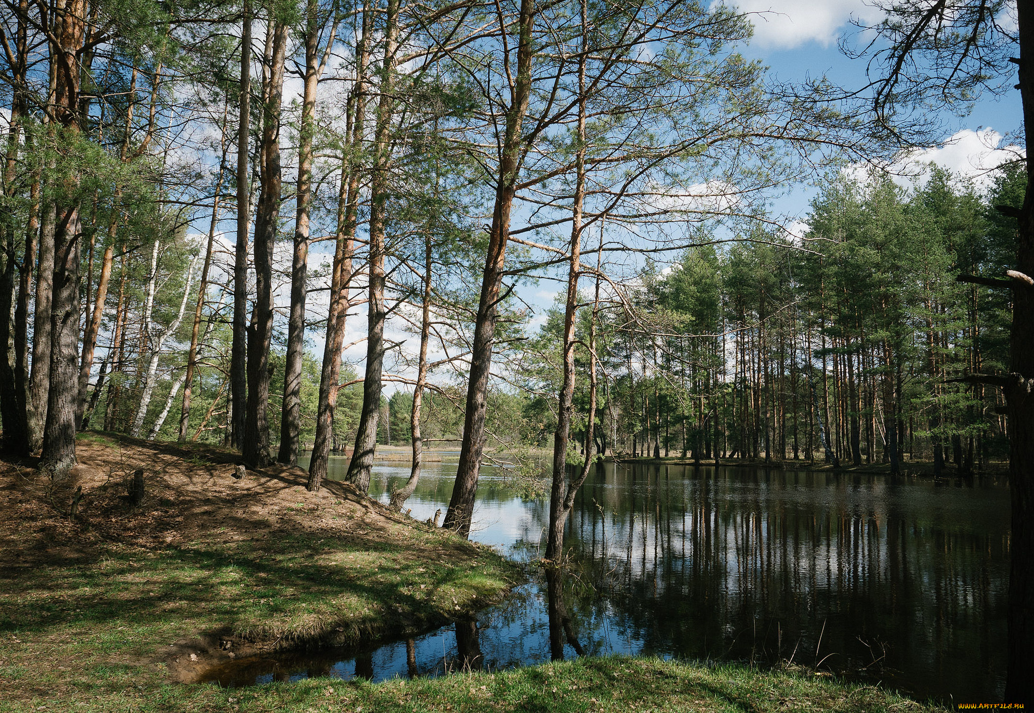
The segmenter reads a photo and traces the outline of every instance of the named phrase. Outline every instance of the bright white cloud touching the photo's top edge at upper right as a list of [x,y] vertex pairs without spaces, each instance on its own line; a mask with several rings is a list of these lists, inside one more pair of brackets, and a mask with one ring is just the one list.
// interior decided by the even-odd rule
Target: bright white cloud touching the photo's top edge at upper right
[[789,50],[808,42],[829,47],[851,14],[868,19],[873,8],[862,0],[737,0],[751,16],[753,43],[766,49]]

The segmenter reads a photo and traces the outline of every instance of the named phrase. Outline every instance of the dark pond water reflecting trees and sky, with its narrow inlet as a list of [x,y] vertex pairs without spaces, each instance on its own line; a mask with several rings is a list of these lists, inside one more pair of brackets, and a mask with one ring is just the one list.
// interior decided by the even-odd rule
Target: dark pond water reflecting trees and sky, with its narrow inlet
[[[414,517],[448,506],[451,459],[425,466]],[[331,458],[330,477],[346,467]],[[378,464],[370,496],[387,502],[408,471]],[[484,468],[470,537],[533,559],[548,510]],[[818,663],[944,701],[1004,690],[1004,483],[606,464],[578,496],[566,545],[575,565],[562,580],[539,571],[474,619],[374,649],[245,660],[214,680],[379,681],[625,653]]]

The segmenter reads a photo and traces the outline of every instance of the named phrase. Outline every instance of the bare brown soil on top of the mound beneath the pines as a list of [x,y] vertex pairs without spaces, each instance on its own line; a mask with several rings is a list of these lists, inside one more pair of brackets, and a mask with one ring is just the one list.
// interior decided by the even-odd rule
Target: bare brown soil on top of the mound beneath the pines
[[[220,528],[232,541],[273,528],[352,530],[357,517],[374,530],[412,523],[347,483],[325,480],[320,493],[300,493],[308,476],[297,467],[276,464],[237,479],[240,456],[204,445],[88,434],[75,451],[79,465],[57,486],[35,477],[33,461],[0,461],[0,570],[88,560],[105,541],[175,545]],[[134,507],[129,488],[139,469],[145,496]]]

